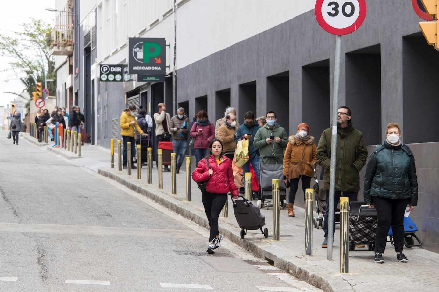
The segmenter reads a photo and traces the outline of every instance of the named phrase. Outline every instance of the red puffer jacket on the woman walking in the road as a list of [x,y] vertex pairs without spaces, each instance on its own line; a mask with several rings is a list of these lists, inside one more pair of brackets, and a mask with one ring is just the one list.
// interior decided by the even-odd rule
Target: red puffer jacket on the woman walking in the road
[[195,182],[201,183],[207,180],[206,191],[209,193],[232,193],[232,196],[238,195],[238,190],[235,185],[235,180],[232,171],[232,161],[223,156],[219,165],[213,155],[210,155],[209,167],[213,170],[213,174],[209,177],[206,159],[198,162],[197,168],[192,172],[192,179]]

